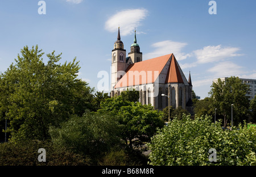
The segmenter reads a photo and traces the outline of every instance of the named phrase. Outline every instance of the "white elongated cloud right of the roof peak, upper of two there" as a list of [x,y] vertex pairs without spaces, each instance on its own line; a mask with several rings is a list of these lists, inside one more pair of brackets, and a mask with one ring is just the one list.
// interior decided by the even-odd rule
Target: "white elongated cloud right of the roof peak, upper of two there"
[[236,53],[240,48],[236,47],[221,47],[206,46],[203,49],[195,50],[193,53],[196,55],[197,61],[201,64],[208,62],[221,61],[225,58],[241,56],[242,54]]

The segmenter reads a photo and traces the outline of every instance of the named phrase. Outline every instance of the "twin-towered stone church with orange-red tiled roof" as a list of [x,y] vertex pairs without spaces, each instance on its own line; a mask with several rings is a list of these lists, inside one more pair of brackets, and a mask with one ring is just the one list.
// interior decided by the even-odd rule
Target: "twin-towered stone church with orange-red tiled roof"
[[[155,109],[181,106],[192,112],[192,82],[183,74],[173,53],[142,60],[142,52],[137,43],[136,31],[134,43],[126,57],[118,28],[117,41],[112,50],[110,96],[119,96],[122,91],[139,91],[142,104],[151,104]],[[169,102],[169,103],[168,103]]]

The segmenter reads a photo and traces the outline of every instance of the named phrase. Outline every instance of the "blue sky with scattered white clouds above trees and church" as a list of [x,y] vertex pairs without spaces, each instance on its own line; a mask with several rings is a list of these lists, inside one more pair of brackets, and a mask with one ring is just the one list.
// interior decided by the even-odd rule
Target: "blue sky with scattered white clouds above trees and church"
[[[20,49],[38,44],[43,52],[62,54],[61,63],[80,61],[79,78],[97,89],[100,71],[109,73],[111,52],[120,26],[126,52],[137,30],[143,60],[174,53],[183,73],[191,71],[193,90],[205,98],[212,80],[235,75],[256,79],[256,1],[208,0],[0,1],[0,71]],[[46,55],[44,60],[47,61]],[[107,91],[106,91],[107,92]]]

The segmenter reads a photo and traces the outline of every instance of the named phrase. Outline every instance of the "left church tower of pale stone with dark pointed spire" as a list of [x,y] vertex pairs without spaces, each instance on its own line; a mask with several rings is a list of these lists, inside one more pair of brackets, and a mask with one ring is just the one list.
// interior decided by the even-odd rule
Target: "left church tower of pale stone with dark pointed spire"
[[123,49],[123,42],[121,41],[119,27],[117,41],[115,41],[114,49],[112,50],[111,70],[111,90],[113,91],[115,84],[120,78],[122,78],[126,70],[126,50]]

